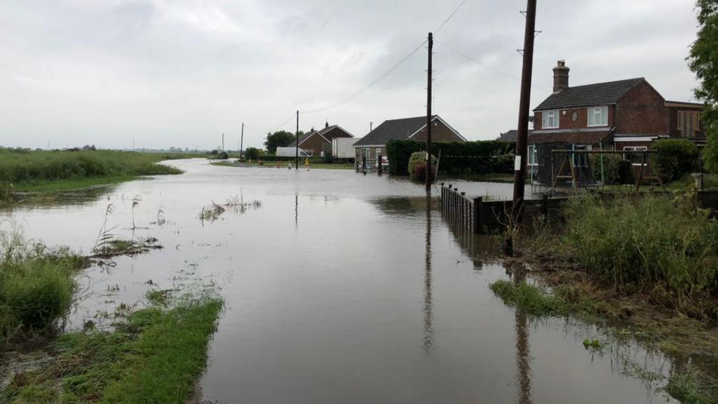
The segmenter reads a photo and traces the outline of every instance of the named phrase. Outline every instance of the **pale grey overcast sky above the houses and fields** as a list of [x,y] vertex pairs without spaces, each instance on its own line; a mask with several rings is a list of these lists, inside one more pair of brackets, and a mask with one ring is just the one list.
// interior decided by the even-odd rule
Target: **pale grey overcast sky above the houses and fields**
[[[260,146],[269,130],[426,114],[426,49],[460,0],[2,0],[0,145]],[[434,113],[467,139],[516,129],[526,0],[467,0],[435,35]],[[538,0],[532,108],[570,84],[645,77],[691,101],[693,0]],[[473,60],[460,55],[459,50]],[[485,66],[490,66],[487,68]],[[500,70],[498,73],[495,70]],[[327,109],[329,108],[329,109]],[[281,126],[284,121],[289,122]]]

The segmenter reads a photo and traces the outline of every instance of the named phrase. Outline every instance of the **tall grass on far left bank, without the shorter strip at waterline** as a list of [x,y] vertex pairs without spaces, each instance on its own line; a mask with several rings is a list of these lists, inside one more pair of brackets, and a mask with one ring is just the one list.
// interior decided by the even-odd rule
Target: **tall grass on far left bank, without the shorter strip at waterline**
[[32,183],[122,175],[179,174],[157,164],[176,157],[162,153],[113,150],[27,151],[0,149],[0,183]]

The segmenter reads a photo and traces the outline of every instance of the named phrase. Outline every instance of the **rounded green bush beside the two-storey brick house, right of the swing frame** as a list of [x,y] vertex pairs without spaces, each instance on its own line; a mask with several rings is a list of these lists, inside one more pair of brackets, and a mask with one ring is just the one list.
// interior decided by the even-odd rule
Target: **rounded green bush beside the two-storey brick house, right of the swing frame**
[[678,180],[685,173],[696,168],[698,161],[698,147],[694,142],[686,139],[661,139],[653,142],[651,157],[655,160],[658,175],[664,181]]

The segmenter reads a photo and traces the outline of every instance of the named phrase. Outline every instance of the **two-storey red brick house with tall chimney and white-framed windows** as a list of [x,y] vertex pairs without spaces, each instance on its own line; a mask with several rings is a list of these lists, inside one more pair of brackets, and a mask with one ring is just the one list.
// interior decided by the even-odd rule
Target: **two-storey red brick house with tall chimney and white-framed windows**
[[553,70],[554,93],[534,109],[529,168],[551,149],[640,151],[671,137],[705,143],[701,104],[666,101],[645,78],[571,87],[563,60]]

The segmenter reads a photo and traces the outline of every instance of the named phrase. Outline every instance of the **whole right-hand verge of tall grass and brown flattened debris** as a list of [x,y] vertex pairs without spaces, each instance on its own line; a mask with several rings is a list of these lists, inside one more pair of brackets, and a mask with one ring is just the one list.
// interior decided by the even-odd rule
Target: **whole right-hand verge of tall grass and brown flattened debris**
[[684,365],[665,387],[674,398],[718,403],[717,221],[691,194],[583,198],[564,219],[538,221],[518,242],[518,262],[553,293],[510,283],[495,293],[537,316],[594,316]]

